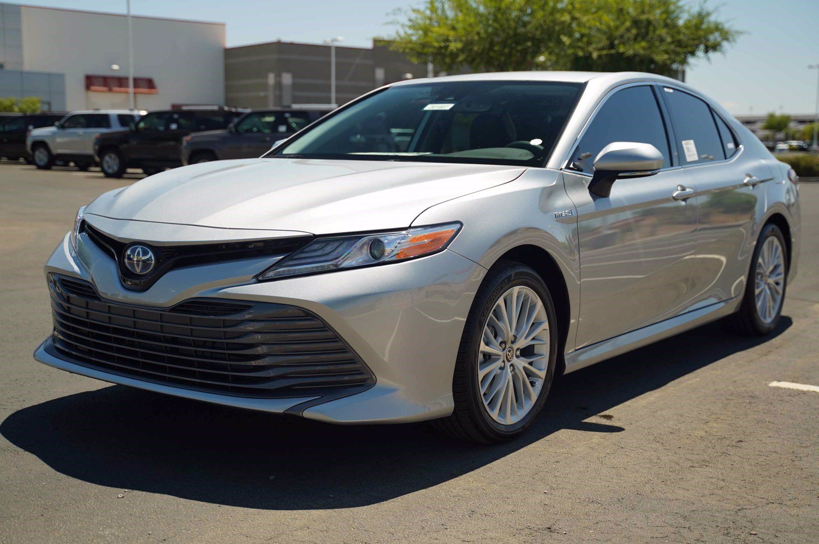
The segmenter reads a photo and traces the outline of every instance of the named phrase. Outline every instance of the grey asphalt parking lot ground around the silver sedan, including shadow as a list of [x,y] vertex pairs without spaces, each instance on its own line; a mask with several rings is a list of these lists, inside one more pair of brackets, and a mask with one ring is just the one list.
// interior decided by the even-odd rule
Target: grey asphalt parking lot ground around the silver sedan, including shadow
[[523,439],[336,427],[40,365],[42,265],[133,182],[0,164],[0,542],[817,542],[819,183],[766,339],[718,324],[560,380]]

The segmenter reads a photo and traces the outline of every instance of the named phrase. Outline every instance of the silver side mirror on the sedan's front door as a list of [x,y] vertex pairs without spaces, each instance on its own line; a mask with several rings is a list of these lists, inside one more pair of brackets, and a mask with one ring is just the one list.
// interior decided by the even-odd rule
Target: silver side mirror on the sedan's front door
[[618,178],[643,178],[658,173],[663,168],[663,154],[649,143],[613,142],[600,151],[594,166],[589,191],[609,196]]

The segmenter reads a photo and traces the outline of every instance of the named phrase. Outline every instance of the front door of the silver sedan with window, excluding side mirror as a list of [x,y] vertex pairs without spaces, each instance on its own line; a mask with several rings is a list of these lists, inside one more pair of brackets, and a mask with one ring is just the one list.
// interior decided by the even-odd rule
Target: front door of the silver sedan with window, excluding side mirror
[[[697,205],[676,168],[656,91],[620,88],[604,98],[563,173],[577,206],[581,303],[576,348],[685,312],[692,296]],[[608,197],[587,187],[593,161],[612,142],[643,142],[663,154],[663,169],[618,179]]]

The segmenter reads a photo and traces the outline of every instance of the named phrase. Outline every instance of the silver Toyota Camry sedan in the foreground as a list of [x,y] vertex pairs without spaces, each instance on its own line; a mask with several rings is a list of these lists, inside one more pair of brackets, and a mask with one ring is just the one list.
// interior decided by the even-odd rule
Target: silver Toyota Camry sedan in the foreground
[[34,357],[498,442],[532,425],[558,375],[720,318],[770,333],[798,258],[798,178],[683,83],[405,81],[260,159],[79,209],[45,267],[53,332]]

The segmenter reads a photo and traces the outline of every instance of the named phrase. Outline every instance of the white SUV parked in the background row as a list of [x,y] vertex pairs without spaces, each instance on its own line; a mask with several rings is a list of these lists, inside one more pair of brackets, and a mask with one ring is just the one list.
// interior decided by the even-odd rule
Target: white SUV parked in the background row
[[130,110],[73,111],[53,127],[34,128],[25,139],[26,149],[38,169],[73,162],[80,170],[93,166],[94,137],[128,127],[138,115]]

